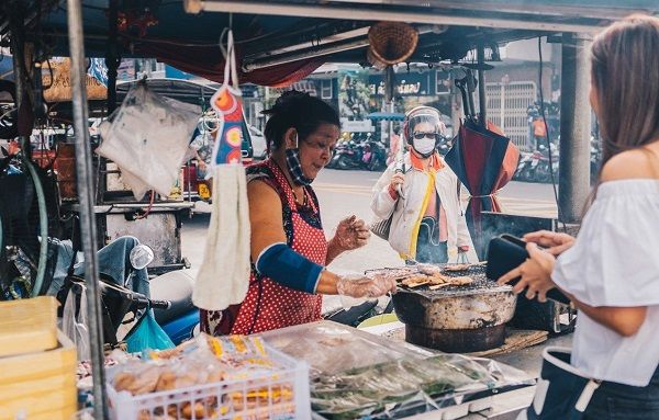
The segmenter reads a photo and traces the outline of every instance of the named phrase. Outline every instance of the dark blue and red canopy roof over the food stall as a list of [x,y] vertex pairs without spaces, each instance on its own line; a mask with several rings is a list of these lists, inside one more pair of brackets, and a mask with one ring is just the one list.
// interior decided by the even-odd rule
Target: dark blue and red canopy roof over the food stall
[[[108,0],[83,0],[85,50],[104,57]],[[547,33],[593,33],[632,12],[657,13],[656,0],[118,0],[119,53],[153,57],[178,69],[222,81],[223,29],[234,29],[242,82],[284,87],[323,63],[366,64],[369,26],[381,20],[413,23],[418,47],[410,61],[465,59],[477,44],[495,45]],[[9,14],[24,8],[25,36],[52,55],[68,55],[66,1],[3,1],[0,35]],[[40,9],[41,8],[41,9]],[[186,8],[190,12],[188,13]],[[217,13],[209,13],[210,11]],[[230,13],[231,12],[231,13]]]

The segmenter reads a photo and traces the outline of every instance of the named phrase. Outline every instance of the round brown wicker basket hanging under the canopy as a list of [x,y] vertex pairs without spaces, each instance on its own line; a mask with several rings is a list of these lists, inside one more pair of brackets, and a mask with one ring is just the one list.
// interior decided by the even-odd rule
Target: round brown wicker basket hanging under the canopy
[[[368,58],[387,66],[403,63],[414,53],[418,32],[403,22],[378,22],[368,31]],[[371,57],[372,56],[372,57]],[[376,65],[376,63],[371,64]]]

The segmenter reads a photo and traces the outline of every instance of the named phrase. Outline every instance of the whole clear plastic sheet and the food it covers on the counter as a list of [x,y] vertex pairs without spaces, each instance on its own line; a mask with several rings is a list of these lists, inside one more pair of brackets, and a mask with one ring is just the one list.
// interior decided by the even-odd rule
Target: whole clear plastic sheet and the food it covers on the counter
[[404,418],[461,404],[466,396],[535,383],[488,359],[429,352],[330,321],[260,337],[310,363],[312,407],[322,419]]

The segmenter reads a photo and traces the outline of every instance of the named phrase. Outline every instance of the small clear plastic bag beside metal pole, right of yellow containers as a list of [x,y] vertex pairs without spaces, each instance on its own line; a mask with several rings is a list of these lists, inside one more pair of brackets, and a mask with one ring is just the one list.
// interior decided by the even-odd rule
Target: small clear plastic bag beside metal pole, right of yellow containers
[[[80,307],[77,308],[76,297],[78,293],[74,292],[77,290],[80,295]],[[77,314],[77,315],[76,315]],[[71,287],[64,304],[64,311],[62,313],[62,329],[64,333],[76,343],[78,350],[78,360],[89,360],[89,329],[87,328],[87,287],[83,285],[76,285]]]

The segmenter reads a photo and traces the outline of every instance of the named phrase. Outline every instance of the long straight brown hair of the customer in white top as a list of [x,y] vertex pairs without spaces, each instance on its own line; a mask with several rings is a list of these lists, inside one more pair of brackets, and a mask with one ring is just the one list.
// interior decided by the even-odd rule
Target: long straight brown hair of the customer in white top
[[615,155],[659,138],[659,19],[635,14],[600,33],[591,48],[602,168]]

